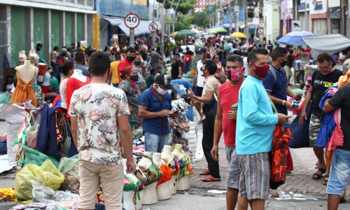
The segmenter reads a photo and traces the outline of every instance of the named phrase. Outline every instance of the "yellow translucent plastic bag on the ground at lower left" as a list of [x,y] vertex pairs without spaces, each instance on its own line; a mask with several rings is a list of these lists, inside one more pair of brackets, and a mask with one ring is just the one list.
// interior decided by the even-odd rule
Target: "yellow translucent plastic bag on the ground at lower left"
[[31,200],[33,186],[31,182],[42,178],[45,186],[52,190],[58,190],[64,181],[61,174],[50,160],[45,160],[41,167],[34,164],[26,165],[18,172],[15,178],[15,197],[18,200]]

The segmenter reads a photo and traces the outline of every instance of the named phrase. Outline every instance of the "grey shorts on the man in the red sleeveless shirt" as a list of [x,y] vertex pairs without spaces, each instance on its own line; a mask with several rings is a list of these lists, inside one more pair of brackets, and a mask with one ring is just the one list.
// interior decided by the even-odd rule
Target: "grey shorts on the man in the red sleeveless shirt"
[[239,170],[238,155],[235,146],[225,146],[226,158],[230,165],[228,169],[228,179],[226,180],[226,186],[228,188],[239,189],[239,176],[241,171]]

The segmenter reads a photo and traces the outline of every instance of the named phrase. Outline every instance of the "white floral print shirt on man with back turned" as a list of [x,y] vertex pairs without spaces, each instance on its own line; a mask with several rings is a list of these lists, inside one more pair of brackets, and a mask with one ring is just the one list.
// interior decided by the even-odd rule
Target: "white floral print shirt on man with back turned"
[[123,162],[117,116],[130,115],[125,93],[111,85],[90,83],[73,92],[69,114],[78,118],[79,160],[99,165]]

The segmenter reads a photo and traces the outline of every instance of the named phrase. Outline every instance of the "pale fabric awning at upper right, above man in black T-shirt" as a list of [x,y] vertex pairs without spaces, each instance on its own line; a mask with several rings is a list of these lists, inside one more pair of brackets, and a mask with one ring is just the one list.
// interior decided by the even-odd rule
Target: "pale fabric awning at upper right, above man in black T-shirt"
[[350,48],[350,39],[342,34],[326,34],[303,37],[302,40],[311,48],[312,57],[316,58],[318,54],[327,52],[332,55],[346,48]]

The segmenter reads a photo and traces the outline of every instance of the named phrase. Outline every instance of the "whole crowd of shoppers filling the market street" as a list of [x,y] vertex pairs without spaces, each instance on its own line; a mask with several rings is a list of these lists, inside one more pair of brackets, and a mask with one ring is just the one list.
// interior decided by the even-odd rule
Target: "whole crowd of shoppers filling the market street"
[[[309,122],[309,146],[317,168],[310,179],[325,174],[328,209],[337,209],[350,176],[349,52],[342,51],[347,57],[340,58],[318,55],[318,68],[303,95],[292,89],[290,77],[294,59],[300,51],[310,52],[309,48],[273,48],[265,38],[260,42],[219,36],[168,41],[164,52],[149,43],[139,37],[134,47],[114,40],[104,51],[80,44],[53,48],[41,100],[68,110],[80,156],[79,208],[92,207],[91,192],[98,190],[99,179],[109,186],[104,188],[106,207],[111,201],[120,202],[119,195],[111,192],[122,186],[122,148],[127,172],[136,167],[132,131],[142,127],[145,151],[160,153],[169,144],[169,118],[179,113],[172,109],[172,100],[183,98],[195,107],[200,116],[197,123],[203,127],[208,163],[200,173],[204,182],[221,181],[218,144],[223,134],[230,165],[228,209],[236,205],[248,209],[248,204],[251,209],[264,209],[272,184],[280,186],[286,174],[293,172],[288,139],[283,138],[290,134],[290,111],[304,102],[297,123],[302,127]],[[38,59],[41,48],[38,43]],[[344,68],[335,69],[337,63]],[[6,89],[20,84],[18,79],[6,77]],[[175,83],[185,92],[174,88]],[[287,143],[277,148],[275,141]],[[276,150],[283,160],[272,158]],[[272,167],[274,161],[280,161],[278,166]],[[284,175],[276,178],[276,172]]]

